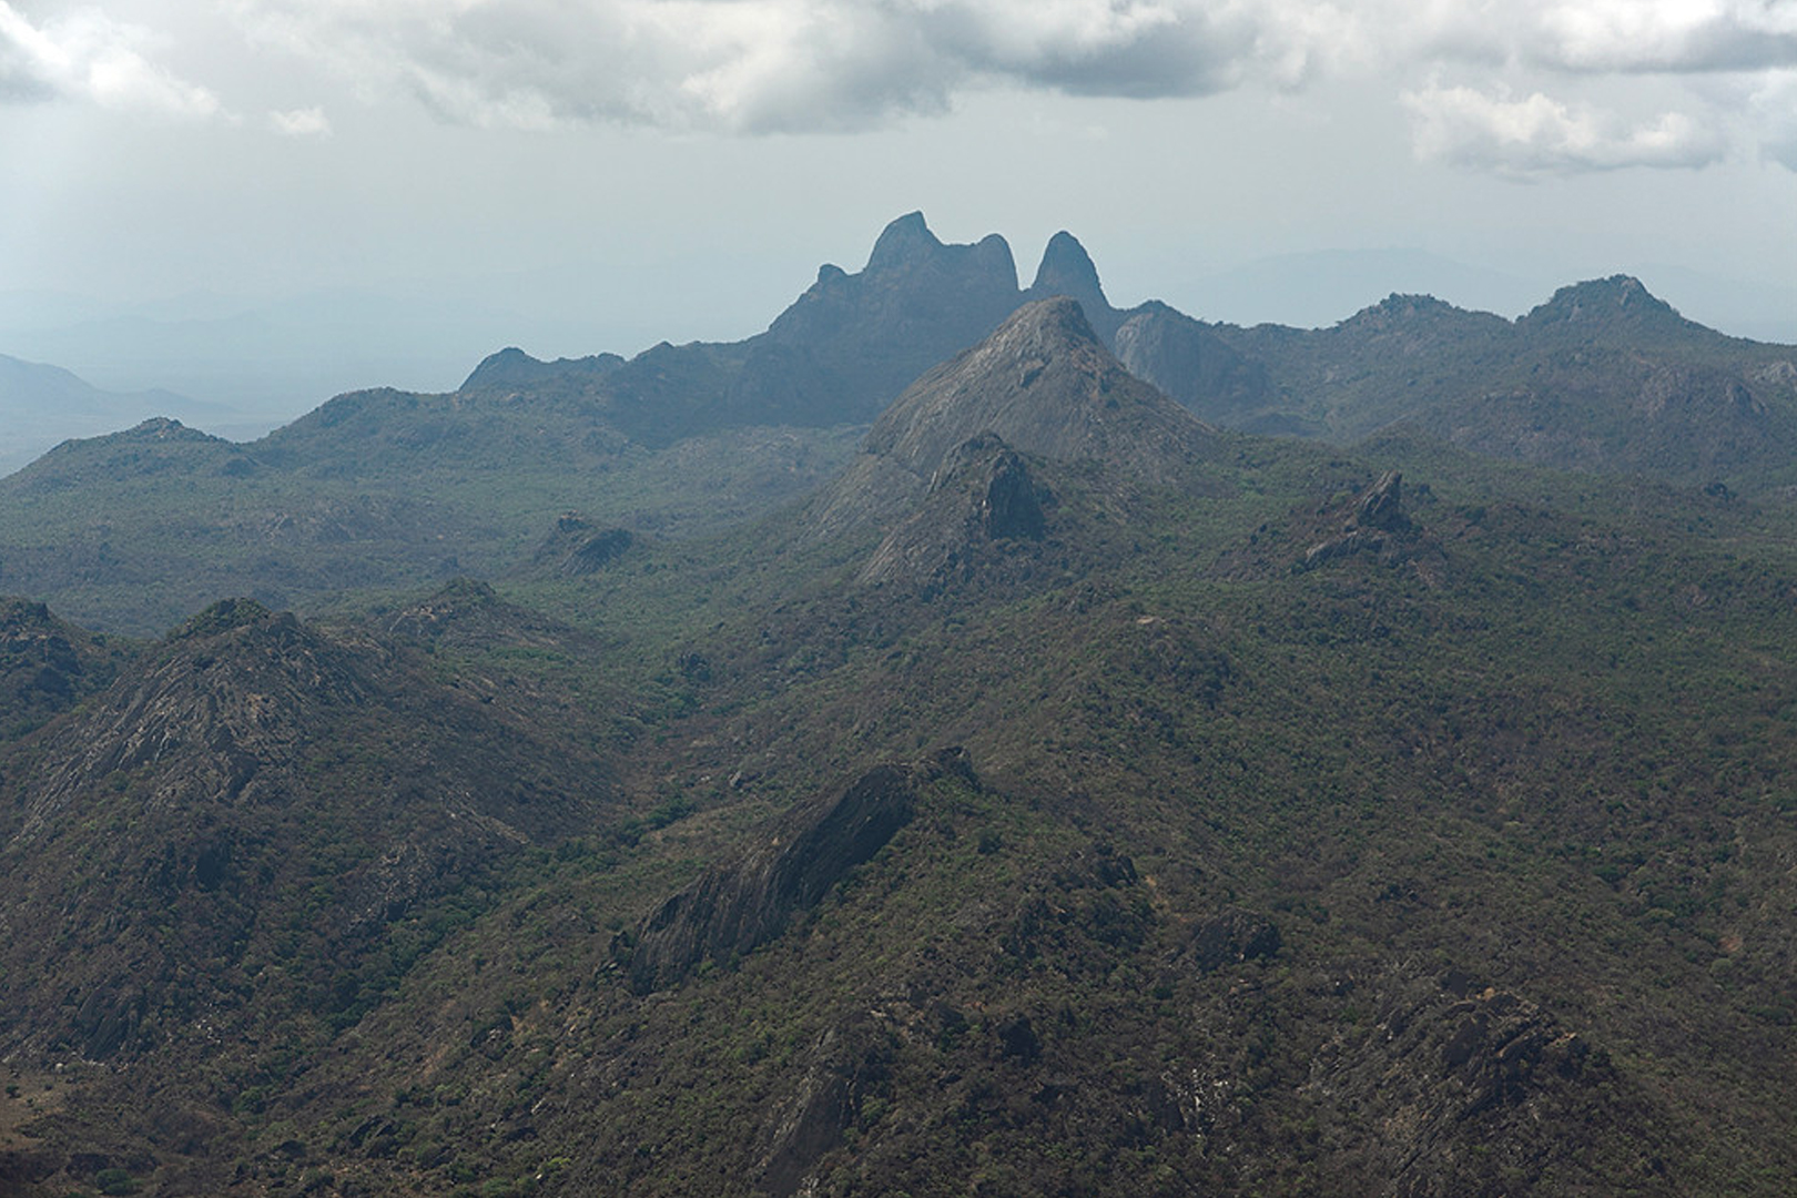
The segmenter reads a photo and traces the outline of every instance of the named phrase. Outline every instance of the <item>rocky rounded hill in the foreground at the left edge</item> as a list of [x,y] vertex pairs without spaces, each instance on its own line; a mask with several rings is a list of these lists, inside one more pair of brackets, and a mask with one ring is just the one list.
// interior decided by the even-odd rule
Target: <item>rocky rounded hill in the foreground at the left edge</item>
[[[390,749],[345,756],[356,742]],[[84,1060],[372,1000],[347,979],[388,925],[586,826],[609,790],[478,684],[248,600],[146,650],[25,762],[7,772],[4,853],[31,862],[0,902],[7,1042]],[[43,920],[58,939],[23,934]],[[302,943],[345,973],[264,975]]]

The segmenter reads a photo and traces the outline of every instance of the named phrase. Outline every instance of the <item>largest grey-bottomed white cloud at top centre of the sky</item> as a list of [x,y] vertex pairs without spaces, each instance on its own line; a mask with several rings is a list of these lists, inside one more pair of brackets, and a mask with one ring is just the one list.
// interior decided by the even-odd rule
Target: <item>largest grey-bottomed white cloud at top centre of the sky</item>
[[1314,0],[239,0],[248,29],[444,119],[854,129],[981,86],[1294,86],[1344,34]]

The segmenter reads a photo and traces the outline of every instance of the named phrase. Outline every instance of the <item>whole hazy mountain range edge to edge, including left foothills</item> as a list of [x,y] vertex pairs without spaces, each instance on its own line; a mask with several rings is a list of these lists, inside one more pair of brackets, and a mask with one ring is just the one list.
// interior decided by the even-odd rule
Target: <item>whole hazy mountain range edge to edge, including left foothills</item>
[[918,375],[1049,296],[1218,429],[1337,445],[1402,431],[1729,494],[1797,485],[1797,348],[1716,334],[1626,277],[1518,320],[1391,296],[1330,329],[1242,329],[1112,307],[1069,233],[1022,287],[1001,237],[943,244],[913,212],[861,271],[823,266],[744,341],[629,359],[507,348],[455,392],[350,392],[248,444],[153,422],[63,445],[0,480],[0,587],[147,632],[219,593],[286,607],[494,575],[568,512],[634,533],[724,528],[836,474]]

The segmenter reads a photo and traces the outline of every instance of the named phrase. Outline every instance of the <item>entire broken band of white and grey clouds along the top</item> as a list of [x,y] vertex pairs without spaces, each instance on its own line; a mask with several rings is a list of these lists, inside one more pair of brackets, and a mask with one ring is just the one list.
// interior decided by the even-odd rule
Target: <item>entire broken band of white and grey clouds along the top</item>
[[[113,11],[128,2],[102,0]],[[135,0],[133,11],[169,13],[173,2]],[[1403,93],[1421,153],[1468,167],[1687,167],[1714,160],[1723,144],[1784,163],[1797,156],[1793,119],[1781,108],[1790,90],[1775,83],[1797,72],[1797,0],[219,5],[253,52],[280,47],[289,66],[331,72],[368,102],[410,97],[446,122],[482,128],[854,131],[940,115],[988,88],[1157,99],[1297,93],[1317,77],[1359,77]],[[208,88],[160,66],[156,48],[144,29],[99,11],[34,22],[0,0],[0,102],[68,97],[223,115]],[[1580,95],[1592,79],[1639,84],[1641,95],[1617,101],[1635,115],[1551,99]],[[1731,88],[1732,102],[1718,99]],[[295,110],[270,113],[268,128],[323,135],[331,122]]]

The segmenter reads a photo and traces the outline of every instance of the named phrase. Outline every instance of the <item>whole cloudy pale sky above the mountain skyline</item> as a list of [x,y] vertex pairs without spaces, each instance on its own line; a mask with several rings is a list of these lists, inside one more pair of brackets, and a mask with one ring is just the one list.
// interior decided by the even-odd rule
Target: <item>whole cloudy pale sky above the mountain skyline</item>
[[0,0],[0,354],[101,386],[737,339],[911,210],[1204,320],[1797,341],[1797,0]]

